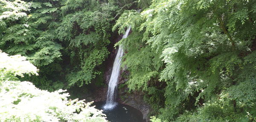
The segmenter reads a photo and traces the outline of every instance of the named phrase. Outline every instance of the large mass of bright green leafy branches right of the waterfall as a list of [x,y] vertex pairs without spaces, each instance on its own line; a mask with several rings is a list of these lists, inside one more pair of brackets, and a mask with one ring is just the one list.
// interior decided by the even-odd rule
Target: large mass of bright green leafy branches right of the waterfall
[[[255,121],[249,109],[255,92],[248,91],[247,98],[244,90],[253,88],[243,85],[255,82],[255,5],[254,0],[154,0],[140,14],[125,11],[113,29],[122,33],[132,26],[119,43],[127,51],[128,87],[148,91],[149,99],[164,90],[164,104],[157,102],[161,97],[153,102],[162,107],[162,121]],[[158,90],[150,92],[152,87]]]

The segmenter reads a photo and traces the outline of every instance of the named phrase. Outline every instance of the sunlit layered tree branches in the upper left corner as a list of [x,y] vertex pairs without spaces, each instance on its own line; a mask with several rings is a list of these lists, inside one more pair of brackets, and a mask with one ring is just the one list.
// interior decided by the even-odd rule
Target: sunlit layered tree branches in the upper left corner
[[[34,3],[26,3],[21,0],[1,0],[3,9],[0,12],[2,13],[0,48],[11,55],[25,55],[36,66],[45,66],[56,58],[60,58],[61,46],[53,41],[54,35],[39,28],[39,26],[47,25],[47,21],[52,19],[47,15],[52,12],[40,9],[42,6],[47,8],[49,5],[50,3],[37,3],[35,6]],[[39,10],[28,15],[27,13],[33,12],[33,7]]]

